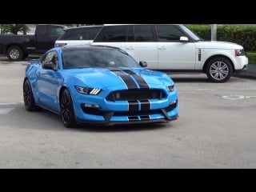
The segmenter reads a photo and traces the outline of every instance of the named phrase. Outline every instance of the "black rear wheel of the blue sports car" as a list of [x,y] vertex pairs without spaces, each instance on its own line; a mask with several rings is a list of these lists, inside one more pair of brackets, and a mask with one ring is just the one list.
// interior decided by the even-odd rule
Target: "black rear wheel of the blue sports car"
[[23,100],[26,110],[36,111],[41,109],[39,106],[36,106],[34,104],[34,94],[32,92],[30,81],[28,79],[26,79],[23,83]]

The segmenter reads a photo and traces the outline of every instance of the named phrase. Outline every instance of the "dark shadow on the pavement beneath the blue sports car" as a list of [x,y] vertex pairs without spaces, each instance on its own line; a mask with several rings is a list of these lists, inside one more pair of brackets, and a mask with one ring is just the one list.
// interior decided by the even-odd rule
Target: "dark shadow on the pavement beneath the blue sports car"
[[[48,110],[40,110],[36,112],[28,112],[24,108],[23,104],[19,104],[10,113],[10,118],[6,118],[7,124],[11,127],[19,128],[26,127],[26,129],[33,130],[63,130],[70,132],[125,132],[125,131],[142,131],[142,130],[157,130],[157,129],[170,129],[172,128],[172,122],[167,123],[145,123],[145,124],[130,124],[130,125],[115,125],[115,126],[103,126],[103,125],[91,125],[81,124],[74,128],[66,128],[62,123],[62,118],[58,114],[54,114]],[[14,117],[12,117],[14,116]],[[10,120],[8,120],[10,119]],[[12,121],[15,119],[15,121]],[[17,124],[17,122],[19,124]]]

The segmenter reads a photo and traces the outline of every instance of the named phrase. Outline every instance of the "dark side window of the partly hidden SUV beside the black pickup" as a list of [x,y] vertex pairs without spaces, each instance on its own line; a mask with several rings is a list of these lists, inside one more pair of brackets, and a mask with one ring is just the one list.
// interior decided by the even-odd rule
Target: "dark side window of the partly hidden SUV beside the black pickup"
[[58,40],[92,40],[101,28],[102,26],[69,29]]

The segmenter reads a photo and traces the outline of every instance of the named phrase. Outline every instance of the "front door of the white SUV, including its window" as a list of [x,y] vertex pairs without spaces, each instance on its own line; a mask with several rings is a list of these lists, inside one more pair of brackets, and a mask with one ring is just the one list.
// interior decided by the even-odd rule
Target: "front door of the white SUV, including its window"
[[181,42],[186,36],[175,25],[155,25],[158,35],[158,70],[194,70],[196,50],[194,42]]

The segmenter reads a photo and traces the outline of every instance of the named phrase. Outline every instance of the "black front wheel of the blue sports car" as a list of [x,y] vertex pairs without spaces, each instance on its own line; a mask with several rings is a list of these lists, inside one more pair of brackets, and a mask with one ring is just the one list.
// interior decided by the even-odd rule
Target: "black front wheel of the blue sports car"
[[62,91],[60,106],[61,117],[64,126],[66,126],[67,128],[75,127],[77,123],[74,118],[74,106],[69,90],[65,89]]

